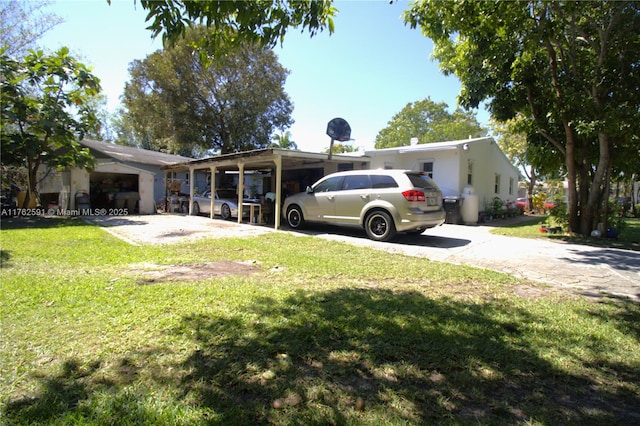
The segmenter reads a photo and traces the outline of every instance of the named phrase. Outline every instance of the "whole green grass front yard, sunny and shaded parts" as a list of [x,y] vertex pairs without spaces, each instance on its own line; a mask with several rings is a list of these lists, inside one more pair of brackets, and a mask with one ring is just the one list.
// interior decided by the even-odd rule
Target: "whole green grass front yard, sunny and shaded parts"
[[288,233],[3,221],[0,423],[640,423],[640,306]]

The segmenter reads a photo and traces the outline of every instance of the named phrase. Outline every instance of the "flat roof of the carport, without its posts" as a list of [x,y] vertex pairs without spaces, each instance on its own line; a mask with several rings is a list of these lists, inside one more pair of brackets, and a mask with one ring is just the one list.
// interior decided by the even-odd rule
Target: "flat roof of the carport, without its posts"
[[237,170],[239,164],[244,164],[247,170],[272,168],[276,161],[282,161],[285,169],[319,166],[335,163],[368,163],[370,158],[362,154],[339,154],[331,159],[326,153],[305,152],[282,148],[264,148],[253,151],[243,151],[231,154],[221,154],[215,157],[184,161],[162,167],[164,170],[206,169],[216,167],[222,170]]

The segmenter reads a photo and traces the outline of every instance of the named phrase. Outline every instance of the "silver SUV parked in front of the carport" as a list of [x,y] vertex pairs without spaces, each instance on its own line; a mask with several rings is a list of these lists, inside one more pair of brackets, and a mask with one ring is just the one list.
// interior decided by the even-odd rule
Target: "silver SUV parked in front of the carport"
[[359,226],[376,241],[388,241],[398,231],[421,233],[446,217],[438,185],[410,170],[333,173],[288,197],[282,211],[293,229],[305,222]]

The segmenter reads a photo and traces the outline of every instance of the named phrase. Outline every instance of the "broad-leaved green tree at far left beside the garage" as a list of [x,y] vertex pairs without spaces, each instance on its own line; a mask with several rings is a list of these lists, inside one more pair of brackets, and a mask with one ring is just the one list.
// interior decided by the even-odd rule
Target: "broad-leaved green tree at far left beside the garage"
[[41,166],[93,166],[78,141],[97,126],[90,100],[100,92],[100,81],[67,48],[46,56],[31,51],[21,61],[0,52],[0,70],[2,163],[26,168],[27,206]]

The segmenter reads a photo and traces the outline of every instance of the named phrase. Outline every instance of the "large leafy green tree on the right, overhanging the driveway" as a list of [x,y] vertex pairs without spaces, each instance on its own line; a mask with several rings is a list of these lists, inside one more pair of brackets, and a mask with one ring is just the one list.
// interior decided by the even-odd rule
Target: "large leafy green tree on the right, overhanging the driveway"
[[601,219],[612,153],[639,158],[639,7],[421,1],[405,12],[434,41],[445,74],[460,79],[462,106],[488,100],[499,121],[522,114],[544,139],[538,146],[549,148],[549,161],[562,160],[573,232],[588,235]]

